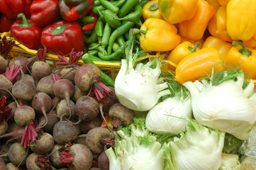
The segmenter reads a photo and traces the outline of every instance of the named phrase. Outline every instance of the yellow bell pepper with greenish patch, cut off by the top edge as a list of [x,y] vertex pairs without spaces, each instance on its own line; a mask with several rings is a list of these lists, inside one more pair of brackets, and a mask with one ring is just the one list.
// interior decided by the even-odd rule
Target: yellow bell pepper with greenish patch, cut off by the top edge
[[168,23],[180,23],[190,20],[196,13],[198,0],[158,0],[162,17]]

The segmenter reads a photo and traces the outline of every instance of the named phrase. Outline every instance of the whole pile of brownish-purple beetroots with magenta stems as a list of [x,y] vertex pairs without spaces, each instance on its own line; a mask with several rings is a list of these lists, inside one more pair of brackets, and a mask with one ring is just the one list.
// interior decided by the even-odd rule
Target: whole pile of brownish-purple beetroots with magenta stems
[[13,45],[0,40],[0,169],[108,169],[113,130],[132,123],[133,111],[101,83],[99,67],[77,64],[82,52],[59,55],[52,68],[46,48],[10,58]]

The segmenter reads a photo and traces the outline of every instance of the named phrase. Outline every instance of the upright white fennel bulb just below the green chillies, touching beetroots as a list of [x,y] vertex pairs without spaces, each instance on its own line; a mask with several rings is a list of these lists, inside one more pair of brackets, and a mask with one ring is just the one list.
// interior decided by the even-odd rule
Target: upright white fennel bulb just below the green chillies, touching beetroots
[[167,83],[158,84],[161,62],[157,59],[135,67],[136,54],[130,52],[121,60],[121,69],[115,80],[118,101],[133,111],[149,111],[161,96],[169,94]]

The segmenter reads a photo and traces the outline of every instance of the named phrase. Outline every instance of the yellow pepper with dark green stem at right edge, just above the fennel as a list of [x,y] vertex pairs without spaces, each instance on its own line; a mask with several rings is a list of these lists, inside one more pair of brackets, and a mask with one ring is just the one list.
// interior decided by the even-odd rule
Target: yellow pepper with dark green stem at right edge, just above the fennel
[[243,42],[240,41],[233,41],[232,45],[234,47],[229,50],[224,63],[230,67],[239,67],[239,69],[245,72],[245,76],[247,76],[248,79],[255,79],[256,50],[245,47]]

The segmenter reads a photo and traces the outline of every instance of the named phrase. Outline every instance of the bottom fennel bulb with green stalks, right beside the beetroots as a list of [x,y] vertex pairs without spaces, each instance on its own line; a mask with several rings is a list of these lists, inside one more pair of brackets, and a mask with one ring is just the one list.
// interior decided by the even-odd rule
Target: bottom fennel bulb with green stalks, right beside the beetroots
[[162,170],[164,149],[157,137],[145,128],[145,119],[135,118],[128,128],[118,130],[115,151],[106,150],[110,170]]

